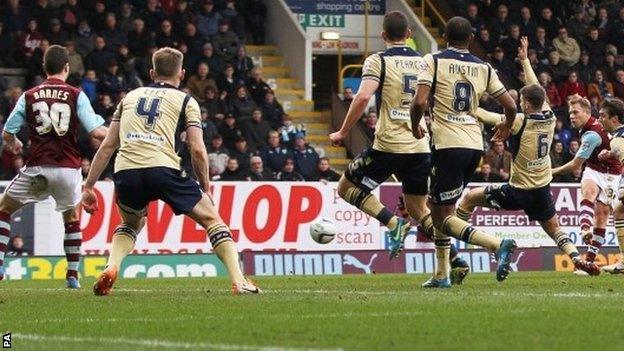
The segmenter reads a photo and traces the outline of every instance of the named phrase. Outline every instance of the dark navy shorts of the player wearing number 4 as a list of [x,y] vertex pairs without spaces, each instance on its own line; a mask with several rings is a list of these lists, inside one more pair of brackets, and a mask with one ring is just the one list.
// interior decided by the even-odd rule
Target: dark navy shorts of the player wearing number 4
[[117,204],[137,215],[145,215],[147,204],[154,200],[166,202],[176,215],[187,214],[202,197],[197,182],[172,168],[127,169],[114,178]]

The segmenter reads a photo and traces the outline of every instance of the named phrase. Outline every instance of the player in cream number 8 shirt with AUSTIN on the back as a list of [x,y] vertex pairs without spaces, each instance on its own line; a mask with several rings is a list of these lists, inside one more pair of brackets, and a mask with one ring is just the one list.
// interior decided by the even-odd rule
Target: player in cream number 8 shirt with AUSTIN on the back
[[[483,94],[493,96],[505,110],[505,122],[498,126],[494,140],[509,136],[516,117],[516,104],[498,79],[496,71],[468,51],[473,39],[470,22],[462,17],[451,18],[444,32],[448,48],[428,54],[418,70],[416,95],[411,107],[412,125],[422,122],[431,99],[432,170],[431,217],[435,226],[436,270],[423,284],[425,288],[450,287],[450,238],[483,246],[496,251],[496,277],[504,280],[516,243],[497,239],[476,230],[455,214],[455,203],[472,177],[483,154],[481,126],[475,117]],[[425,139],[422,129],[414,128],[414,136]]]

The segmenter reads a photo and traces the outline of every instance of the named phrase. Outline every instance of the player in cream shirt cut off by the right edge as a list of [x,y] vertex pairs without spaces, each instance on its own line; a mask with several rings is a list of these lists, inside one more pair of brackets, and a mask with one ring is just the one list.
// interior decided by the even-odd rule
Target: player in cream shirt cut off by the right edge
[[[600,107],[600,123],[604,129],[611,133],[611,150],[602,150],[598,159],[606,161],[610,158],[624,163],[624,102],[620,99],[606,99]],[[617,189],[617,200],[614,201],[613,217],[615,219],[615,231],[620,245],[620,262],[602,266],[602,270],[612,274],[624,273],[624,184],[620,179]]]

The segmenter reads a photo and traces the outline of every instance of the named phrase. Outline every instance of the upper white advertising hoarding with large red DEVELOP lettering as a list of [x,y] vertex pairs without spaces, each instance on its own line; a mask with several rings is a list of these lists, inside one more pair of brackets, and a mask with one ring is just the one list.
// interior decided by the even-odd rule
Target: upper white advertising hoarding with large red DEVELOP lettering
[[[471,185],[474,186],[474,185]],[[343,201],[336,191],[337,183],[322,182],[213,182],[212,193],[219,213],[230,225],[240,251],[360,251],[384,250],[385,227],[362,211]],[[120,222],[112,182],[96,185],[100,211],[90,216],[83,212],[82,251],[102,255],[109,247],[112,233]],[[578,232],[580,186],[554,184],[555,208],[563,230],[576,245],[582,245]],[[396,207],[401,187],[382,185],[374,194],[390,209]],[[49,200],[34,208],[34,254],[63,255],[62,220]],[[326,245],[309,236],[311,223],[329,218],[336,224],[338,235]],[[522,248],[555,247],[555,243],[538,223],[529,221],[521,212],[477,210],[472,218],[475,227],[498,237],[515,239]],[[432,249],[433,245],[416,227],[410,231],[406,249]],[[460,249],[471,248],[458,242]],[[612,220],[605,246],[617,246]],[[147,224],[140,233],[135,253],[176,254],[210,252],[205,231],[184,216],[174,216],[171,208],[160,201],[148,208]]]

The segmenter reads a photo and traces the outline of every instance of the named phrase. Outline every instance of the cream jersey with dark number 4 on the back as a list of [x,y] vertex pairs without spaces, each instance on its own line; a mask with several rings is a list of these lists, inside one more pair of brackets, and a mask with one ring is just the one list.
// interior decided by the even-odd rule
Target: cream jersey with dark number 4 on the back
[[117,106],[119,152],[115,172],[126,169],[167,167],[180,169],[175,151],[179,123],[201,128],[199,104],[172,85],[156,83],[135,89]]

